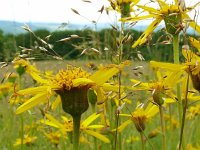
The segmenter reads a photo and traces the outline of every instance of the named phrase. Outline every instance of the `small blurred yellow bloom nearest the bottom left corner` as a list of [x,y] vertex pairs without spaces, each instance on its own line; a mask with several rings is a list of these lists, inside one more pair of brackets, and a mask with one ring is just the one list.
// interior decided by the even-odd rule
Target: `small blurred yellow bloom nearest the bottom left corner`
[[[23,144],[27,146],[33,145],[36,139],[37,139],[36,136],[25,135],[23,139]],[[21,143],[22,143],[21,138],[18,138],[16,139],[14,146],[19,146],[21,145]]]

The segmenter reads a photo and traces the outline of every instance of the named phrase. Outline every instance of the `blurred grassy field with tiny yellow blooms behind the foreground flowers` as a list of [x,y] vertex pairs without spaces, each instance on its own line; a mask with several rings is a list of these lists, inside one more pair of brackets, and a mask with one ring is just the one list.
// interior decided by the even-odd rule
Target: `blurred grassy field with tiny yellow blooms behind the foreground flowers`
[[[48,71],[51,70],[53,72],[57,72],[60,69],[64,69],[67,64],[73,64],[76,66],[81,66],[88,71],[91,71],[90,68],[87,67],[89,62],[86,61],[41,61],[36,62],[37,68],[39,70]],[[92,62],[95,66],[105,62]],[[137,62],[131,64],[131,66],[127,67],[125,71],[122,73],[122,82],[126,83],[127,85],[130,84],[129,79],[142,79],[146,81],[150,81],[153,78],[152,72],[148,68],[148,63],[144,62]],[[133,68],[136,66],[144,66],[145,69],[141,69],[140,71],[143,72],[141,77],[137,76],[136,71]],[[12,66],[8,66],[1,69],[1,79],[3,79],[3,75],[5,72],[14,72]],[[151,79],[150,79],[151,78]],[[4,81],[6,83],[8,81]],[[17,81],[16,81],[17,83]],[[3,84],[2,84],[3,85]],[[22,78],[22,89],[26,87],[34,86],[34,82],[29,75],[23,75]],[[26,111],[20,115],[16,115],[15,111],[16,108],[20,105],[21,102],[11,105],[9,103],[10,96],[13,94],[13,91],[6,92],[1,95],[0,101],[0,149],[2,150],[12,150],[12,149],[72,149],[72,144],[70,144],[70,138],[66,134],[59,132],[58,129],[45,125],[41,123],[41,119],[44,119],[43,113],[49,113],[56,117],[59,121],[61,121],[61,116],[67,116],[70,118],[68,114],[66,114],[63,110],[61,105],[55,111],[48,110],[47,105],[39,105],[30,111]],[[138,92],[134,91],[131,96],[128,96],[130,100],[129,103],[126,103],[126,106],[123,108],[122,113],[130,114],[131,112],[135,111],[135,107],[137,106],[138,102],[147,103],[149,100],[150,94],[148,91],[146,92]],[[171,105],[171,104],[170,104]],[[179,141],[179,134],[180,134],[180,124],[178,121],[178,114],[177,114],[177,103],[173,103],[171,106],[164,108],[164,118],[166,123],[166,143],[169,150],[176,149],[178,146]],[[109,120],[109,126],[101,129],[101,133],[105,135],[111,143],[104,143],[98,139],[95,139],[92,136],[89,136],[86,133],[81,133],[84,136],[85,141],[80,143],[81,149],[114,149],[114,139],[115,139],[115,132],[113,129],[115,128],[115,115],[117,107],[114,104],[112,99],[109,99],[106,102],[106,111],[107,111],[107,119]],[[45,110],[46,109],[46,110]],[[45,112],[46,111],[46,112]],[[89,109],[83,114],[82,119],[84,120],[87,116],[91,115],[94,110]],[[96,111],[95,111],[96,112]],[[127,121],[126,117],[120,117],[120,123]],[[100,120],[94,121],[94,123],[99,122]],[[185,135],[184,135],[184,144],[192,144],[194,146],[198,146],[199,138],[200,138],[200,129],[198,128],[200,118],[199,116],[194,117],[193,119],[187,119],[185,124]],[[23,124],[23,126],[22,126]],[[20,146],[13,146],[16,142],[16,139],[21,137],[23,128],[24,136],[28,135],[30,137],[36,137],[35,140],[28,142],[28,144]],[[58,133],[57,136],[52,136],[52,141],[45,136],[45,133]],[[160,128],[160,118],[157,114],[155,117],[148,120],[145,123],[145,130],[142,132],[144,135],[145,147],[146,149],[155,149],[160,150],[162,149],[162,132]],[[58,136],[59,135],[59,136]],[[136,130],[134,123],[129,124],[120,134],[122,149],[141,149],[141,141],[140,141],[140,133]],[[57,140],[58,143],[53,143],[53,140]],[[96,145],[95,145],[96,143]],[[185,145],[186,146],[186,145]],[[188,146],[189,147],[189,146]],[[190,148],[188,148],[190,150]],[[192,150],[192,149],[191,149]]]

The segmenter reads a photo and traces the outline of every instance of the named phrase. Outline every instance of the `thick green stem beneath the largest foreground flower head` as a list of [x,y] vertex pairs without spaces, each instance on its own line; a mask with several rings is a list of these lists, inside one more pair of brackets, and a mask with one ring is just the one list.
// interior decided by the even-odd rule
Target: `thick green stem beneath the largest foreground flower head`
[[79,149],[81,115],[76,115],[76,116],[72,116],[72,117],[73,117],[73,150],[78,150]]

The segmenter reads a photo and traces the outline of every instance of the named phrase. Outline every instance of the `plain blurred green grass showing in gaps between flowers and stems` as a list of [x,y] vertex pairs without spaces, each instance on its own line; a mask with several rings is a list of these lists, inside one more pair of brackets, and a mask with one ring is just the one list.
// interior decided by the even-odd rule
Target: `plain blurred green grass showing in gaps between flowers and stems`
[[[64,68],[67,64],[74,64],[76,66],[82,66],[83,68],[85,68],[86,70],[90,70],[89,68],[86,67],[86,64],[88,62],[86,61],[40,61],[40,62],[36,62],[36,66],[42,70],[42,71],[48,71],[48,70],[52,70],[53,72],[57,72],[58,70]],[[107,63],[107,62],[94,62],[95,64],[100,64],[100,63]],[[137,65],[143,65],[144,66],[144,74],[141,77],[142,80],[149,80],[152,77],[152,73],[149,71],[148,69],[148,64],[144,63],[144,62],[138,62],[138,63],[133,63],[133,65],[127,67],[125,69],[125,77],[123,78],[124,82],[126,82],[127,84],[130,83],[128,79],[130,78],[138,78],[135,73],[133,71],[133,68]],[[3,75],[5,74],[5,72],[12,72],[13,69],[11,66],[8,66],[6,68],[2,68],[2,71],[0,73],[0,79],[3,79]],[[32,79],[28,76],[25,75],[23,77],[23,86],[24,87],[30,87],[33,86],[33,81]],[[1,98],[0,101],[0,149],[2,150],[12,150],[12,149],[21,149],[20,146],[18,147],[14,147],[13,144],[15,143],[16,138],[20,138],[20,132],[21,132],[21,127],[20,127],[20,115],[16,115],[15,114],[15,110],[17,108],[17,106],[11,106],[8,103],[9,97],[11,96],[11,93],[9,93],[8,95],[5,95]],[[140,96],[144,97],[141,98]],[[123,108],[123,112],[129,113],[130,111],[134,111],[137,100],[141,100],[141,101],[147,101],[147,99],[145,98],[147,97],[146,93],[134,93],[133,96],[129,97],[129,99],[132,101],[132,105],[128,105],[127,107]],[[176,105],[174,106],[174,110],[173,110],[173,117],[176,118]],[[25,125],[32,125],[34,123],[36,123],[36,121],[38,121],[39,119],[42,119],[43,116],[40,112],[40,110],[38,108],[43,108],[42,105],[40,105],[39,107],[35,107],[33,109],[31,109],[31,111],[26,111],[22,114],[23,119],[24,119],[24,124]],[[114,114],[115,114],[115,110],[116,107],[115,106],[111,106],[111,101],[107,102],[107,109],[108,109],[108,118],[110,118],[110,125],[114,126]],[[88,109],[88,111],[83,115],[83,119],[86,118],[87,116],[89,116],[91,114],[91,107]],[[32,113],[30,113],[32,112]],[[64,113],[62,111],[61,106],[56,110],[56,112],[51,113],[54,116],[56,116],[58,119],[60,119],[61,115],[67,115],[66,113]],[[169,110],[168,107],[165,110],[165,114],[169,114]],[[67,115],[69,116],[69,115]],[[177,119],[177,118],[176,118]],[[61,120],[61,119],[60,119]],[[122,121],[124,122],[126,120],[126,118],[122,117]],[[200,118],[199,116],[195,117],[194,120],[187,120],[186,126],[185,126],[185,143],[190,143],[193,144],[194,146],[197,146],[199,143],[199,139],[200,139],[200,129],[199,129],[199,122],[200,122]],[[178,140],[179,140],[179,130],[180,130],[180,126],[178,126],[178,128],[175,129],[171,129],[170,128],[170,122],[169,120],[166,120],[167,123],[167,146],[168,146],[168,150],[173,150],[177,148],[178,145]],[[42,124],[37,124],[38,127],[42,127],[43,130],[45,131],[56,131],[55,128],[51,128],[48,126],[43,126]],[[154,129],[158,129],[160,130],[160,119],[159,116],[157,115],[156,117],[154,117],[152,120],[150,120],[147,124],[146,124],[146,129],[144,131],[144,135],[146,137],[148,137],[148,134],[154,130]],[[107,136],[112,140],[114,137],[114,133],[109,131],[108,128],[108,132],[105,132],[107,134]],[[37,140],[34,143],[34,145],[30,145],[30,146],[24,146],[23,149],[24,150],[29,150],[29,149],[41,149],[41,150],[63,150],[63,149],[70,149],[70,141],[64,137],[61,137],[60,139],[60,144],[56,147],[54,146],[49,140],[47,140],[47,138],[44,136],[44,134],[41,132],[41,130],[37,129],[37,128],[33,128],[30,130],[30,135],[34,135],[37,136]],[[85,134],[84,134],[85,135]],[[160,150],[162,148],[162,141],[161,141],[161,132],[158,132],[157,136],[155,138],[152,139],[148,139],[146,140],[146,149],[147,150]],[[88,141],[90,142],[90,144],[83,144],[81,143],[80,147],[81,150],[86,150],[86,149],[94,149],[94,142],[93,142],[93,138],[91,136],[85,135],[85,137],[88,139]],[[129,125],[123,132],[122,132],[122,145],[123,145],[123,150],[132,150],[132,149],[136,149],[136,150],[140,150],[141,149],[141,142],[139,141],[132,141],[130,143],[127,143],[127,139],[129,137],[140,137],[139,133],[136,131],[134,124]],[[103,142],[97,140],[97,143],[99,145],[99,149],[112,149],[113,147],[113,143],[114,141],[111,142],[111,144],[104,144]]]

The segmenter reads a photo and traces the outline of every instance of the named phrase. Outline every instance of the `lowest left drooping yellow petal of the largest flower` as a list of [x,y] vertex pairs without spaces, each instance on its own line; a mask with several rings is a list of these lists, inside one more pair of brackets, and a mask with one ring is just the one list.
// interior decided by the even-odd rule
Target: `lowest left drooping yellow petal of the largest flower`
[[29,99],[28,101],[26,101],[21,106],[19,106],[16,110],[16,114],[20,114],[20,113],[38,105],[39,103],[43,103],[47,100],[48,100],[47,93],[37,94],[34,97],[32,97],[31,99]]

